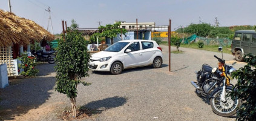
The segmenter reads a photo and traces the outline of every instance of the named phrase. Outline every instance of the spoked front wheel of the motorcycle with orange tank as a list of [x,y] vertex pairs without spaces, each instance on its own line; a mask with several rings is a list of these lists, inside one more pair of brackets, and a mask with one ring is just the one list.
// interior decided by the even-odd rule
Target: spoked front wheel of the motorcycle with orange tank
[[[231,92],[231,88],[226,88],[226,95]],[[236,114],[236,108],[240,106],[240,99],[232,100],[231,96],[226,96],[226,101],[222,102],[220,100],[220,96],[222,94],[222,90],[218,89],[212,94],[212,98],[210,100],[212,111],[215,114],[223,117],[230,117]]]

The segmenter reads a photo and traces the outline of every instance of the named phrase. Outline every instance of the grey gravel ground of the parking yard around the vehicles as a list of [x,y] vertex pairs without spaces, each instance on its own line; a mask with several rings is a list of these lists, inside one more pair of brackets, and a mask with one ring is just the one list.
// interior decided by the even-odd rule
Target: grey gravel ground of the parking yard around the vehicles
[[[171,54],[168,72],[168,47],[161,47],[162,68],[132,68],[119,75],[90,71],[83,80],[92,85],[77,87],[77,107],[97,111],[84,120],[235,120],[214,114],[209,100],[197,97],[190,83],[202,64],[217,67],[214,54],[221,53],[180,48],[185,53]],[[227,64],[235,62],[231,54],[223,57]],[[243,65],[237,62],[234,67]],[[0,89],[0,120],[61,120],[57,116],[71,105],[64,94],[54,91],[53,66],[40,64],[38,77],[18,79],[18,84]]]

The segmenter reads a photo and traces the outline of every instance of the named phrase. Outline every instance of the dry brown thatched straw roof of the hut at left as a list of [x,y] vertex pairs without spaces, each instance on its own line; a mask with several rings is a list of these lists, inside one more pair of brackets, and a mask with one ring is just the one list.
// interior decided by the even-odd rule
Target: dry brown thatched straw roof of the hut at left
[[42,39],[53,41],[54,36],[31,20],[0,10],[0,47],[27,45]]

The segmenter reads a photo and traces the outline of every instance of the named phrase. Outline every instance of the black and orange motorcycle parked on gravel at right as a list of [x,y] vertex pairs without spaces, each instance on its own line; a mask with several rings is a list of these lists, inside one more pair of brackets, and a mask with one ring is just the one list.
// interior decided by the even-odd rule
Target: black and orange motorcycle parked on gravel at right
[[[219,47],[218,51],[222,51],[222,47]],[[231,65],[226,65],[225,60],[215,55],[214,57],[218,59],[218,68],[203,64],[202,69],[195,72],[197,74],[197,82],[191,82],[191,84],[195,87],[197,96],[209,96],[214,113],[230,117],[236,113],[236,108],[240,105],[240,99],[232,100],[231,96],[228,95],[232,91],[232,87],[234,87],[230,80],[232,80],[231,74],[235,71],[235,68]]]

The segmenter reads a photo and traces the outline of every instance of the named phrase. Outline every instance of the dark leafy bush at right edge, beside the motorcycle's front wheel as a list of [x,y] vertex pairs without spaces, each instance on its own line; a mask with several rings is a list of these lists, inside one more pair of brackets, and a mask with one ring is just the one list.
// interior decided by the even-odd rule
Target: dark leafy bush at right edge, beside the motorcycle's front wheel
[[237,120],[256,119],[256,56],[247,54],[244,57],[245,62],[248,62],[245,67],[232,73],[232,77],[236,78],[237,84],[231,92],[233,99],[238,97],[243,102],[237,109]]

